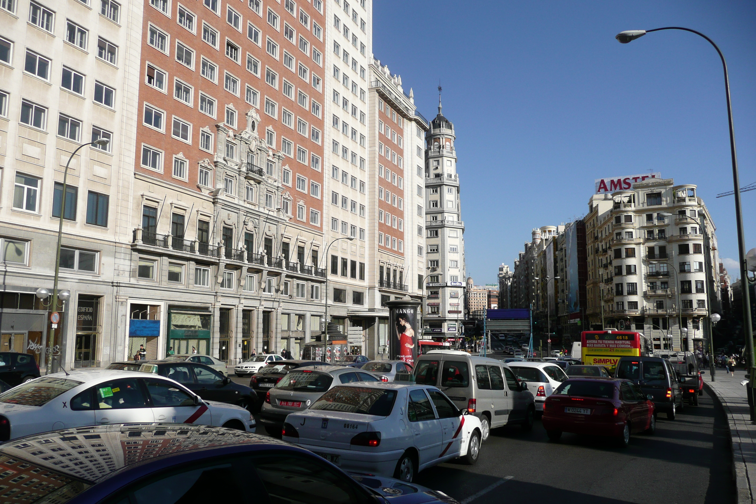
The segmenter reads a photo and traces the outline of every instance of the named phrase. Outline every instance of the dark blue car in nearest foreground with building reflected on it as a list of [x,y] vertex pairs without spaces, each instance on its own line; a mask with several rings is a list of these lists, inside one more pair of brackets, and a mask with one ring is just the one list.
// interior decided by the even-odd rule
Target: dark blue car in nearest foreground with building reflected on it
[[455,502],[391,478],[350,477],[283,441],[181,424],[99,425],[2,444],[0,497],[20,504]]

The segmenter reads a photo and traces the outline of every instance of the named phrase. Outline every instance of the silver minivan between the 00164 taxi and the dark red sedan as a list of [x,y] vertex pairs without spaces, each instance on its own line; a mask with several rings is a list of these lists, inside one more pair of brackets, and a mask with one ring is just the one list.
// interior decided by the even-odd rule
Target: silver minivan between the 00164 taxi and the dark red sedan
[[525,430],[533,427],[533,394],[500,360],[458,350],[432,350],[417,357],[412,379],[419,384],[435,385],[460,410],[477,416],[482,441],[488,439],[491,428],[514,423]]

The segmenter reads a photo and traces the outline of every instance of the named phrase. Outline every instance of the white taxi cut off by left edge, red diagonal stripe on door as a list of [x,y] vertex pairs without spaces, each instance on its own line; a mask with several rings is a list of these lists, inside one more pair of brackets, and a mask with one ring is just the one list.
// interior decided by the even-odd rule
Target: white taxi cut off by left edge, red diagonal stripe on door
[[203,400],[172,379],[138,371],[54,373],[0,394],[0,441],[61,428],[153,422],[256,428],[242,407]]

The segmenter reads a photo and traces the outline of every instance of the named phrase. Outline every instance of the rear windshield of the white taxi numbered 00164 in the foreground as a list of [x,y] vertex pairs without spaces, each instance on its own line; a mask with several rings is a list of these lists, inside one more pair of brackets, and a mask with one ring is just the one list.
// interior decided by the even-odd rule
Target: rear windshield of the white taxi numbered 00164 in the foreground
[[311,410],[362,413],[363,415],[389,416],[395,390],[367,387],[333,387],[321,395],[310,407]]

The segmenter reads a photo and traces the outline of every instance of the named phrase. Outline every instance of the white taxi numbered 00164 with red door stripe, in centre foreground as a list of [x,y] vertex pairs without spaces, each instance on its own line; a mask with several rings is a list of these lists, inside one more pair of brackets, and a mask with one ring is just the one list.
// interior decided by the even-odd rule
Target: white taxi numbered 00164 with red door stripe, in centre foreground
[[478,460],[481,425],[438,388],[358,382],[331,388],[287,416],[283,439],[349,471],[413,481],[449,459]]

